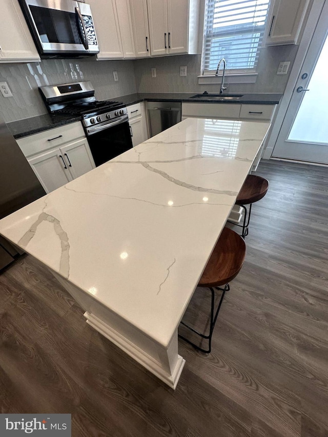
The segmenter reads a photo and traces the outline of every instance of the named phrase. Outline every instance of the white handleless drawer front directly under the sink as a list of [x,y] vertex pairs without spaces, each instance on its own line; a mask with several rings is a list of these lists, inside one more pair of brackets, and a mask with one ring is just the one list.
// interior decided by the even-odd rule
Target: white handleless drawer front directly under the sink
[[241,105],[235,103],[182,103],[182,117],[238,119]]

